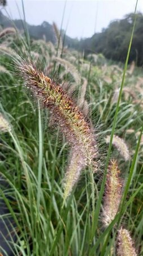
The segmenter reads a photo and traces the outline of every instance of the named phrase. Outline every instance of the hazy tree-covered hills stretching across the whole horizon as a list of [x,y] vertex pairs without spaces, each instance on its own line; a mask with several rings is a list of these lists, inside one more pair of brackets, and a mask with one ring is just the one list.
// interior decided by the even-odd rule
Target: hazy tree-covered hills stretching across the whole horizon
[[[135,14],[128,14],[124,19],[111,22],[109,27],[103,29],[101,33],[96,33],[91,38],[81,40],[72,39],[62,31],[64,46],[84,51],[85,56],[88,53],[102,53],[107,59],[124,62],[134,20]],[[0,11],[0,25],[3,28],[16,26],[19,30],[24,30],[24,27],[27,27],[31,38],[45,38],[46,41],[56,42],[54,28],[46,21],[41,25],[34,26],[24,23],[20,19],[11,21]],[[133,60],[136,61],[138,66],[143,65],[143,15],[141,13],[137,14],[129,63]]]

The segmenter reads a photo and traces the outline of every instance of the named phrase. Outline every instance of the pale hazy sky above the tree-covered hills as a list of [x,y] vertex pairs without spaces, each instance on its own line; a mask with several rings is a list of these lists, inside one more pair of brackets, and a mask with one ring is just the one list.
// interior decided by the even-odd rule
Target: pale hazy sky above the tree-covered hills
[[[122,19],[135,11],[136,0],[23,0],[29,24],[39,25],[44,20],[57,23],[72,38],[87,38],[101,32],[112,20]],[[66,3],[65,3],[66,2]],[[13,19],[23,18],[21,0],[7,0],[6,11]],[[19,7],[19,11],[18,11]],[[2,10],[3,14],[6,14]],[[143,0],[138,0],[137,11],[143,13]],[[19,14],[20,13],[20,14]]]

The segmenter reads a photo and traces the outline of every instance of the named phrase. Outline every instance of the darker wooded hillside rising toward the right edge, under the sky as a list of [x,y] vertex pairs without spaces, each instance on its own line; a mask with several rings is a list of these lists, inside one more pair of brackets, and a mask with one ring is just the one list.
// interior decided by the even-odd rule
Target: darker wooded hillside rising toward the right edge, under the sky
[[[91,38],[80,41],[80,49],[87,52],[101,52],[107,59],[122,61],[127,56],[129,40],[131,38],[135,14],[125,15],[124,19],[114,20],[109,27]],[[136,26],[133,35],[129,63],[136,61],[138,66],[143,65],[143,15],[136,14]]]

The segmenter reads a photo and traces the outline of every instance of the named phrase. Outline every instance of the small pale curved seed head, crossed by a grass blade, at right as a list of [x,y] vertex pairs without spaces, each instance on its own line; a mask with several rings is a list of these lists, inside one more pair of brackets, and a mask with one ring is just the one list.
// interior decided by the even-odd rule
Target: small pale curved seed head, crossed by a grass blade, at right
[[[110,135],[107,135],[105,138],[106,143],[110,142]],[[123,156],[125,161],[129,160],[129,150],[127,147],[127,144],[125,144],[124,140],[119,138],[117,135],[114,135],[112,138],[112,144],[116,147],[116,149],[119,151],[120,155]]]

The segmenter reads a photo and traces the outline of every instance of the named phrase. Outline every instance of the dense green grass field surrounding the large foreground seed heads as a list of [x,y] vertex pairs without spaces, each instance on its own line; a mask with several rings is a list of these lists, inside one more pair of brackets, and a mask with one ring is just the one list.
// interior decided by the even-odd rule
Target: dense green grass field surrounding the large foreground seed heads
[[[89,55],[85,61],[81,53],[63,48],[60,40],[55,46],[44,40],[26,42],[16,32],[2,36],[0,42],[0,112],[5,118],[5,122],[0,121],[0,129],[5,126],[0,131],[0,196],[8,208],[0,218],[5,223],[12,217],[8,236],[3,239],[14,255],[117,255],[121,250],[118,230],[123,226],[141,256],[142,69],[132,63],[122,80],[122,64],[109,63],[102,55]],[[62,84],[96,137],[98,168],[93,172],[90,166],[86,167],[65,201],[63,180],[70,147],[55,126],[53,115],[25,88],[23,77],[16,74],[18,54],[25,60],[28,56],[38,70]],[[106,142],[111,133],[113,143],[110,141],[108,151]],[[117,167],[111,168],[112,162]],[[117,183],[119,180],[116,187],[108,185],[114,182],[111,170]],[[121,183],[122,189],[118,189]],[[105,225],[103,218],[108,213],[103,210],[110,187],[115,193],[122,190],[122,198],[119,210],[114,209],[111,222],[106,221]],[[0,251],[6,255],[2,248]]]

